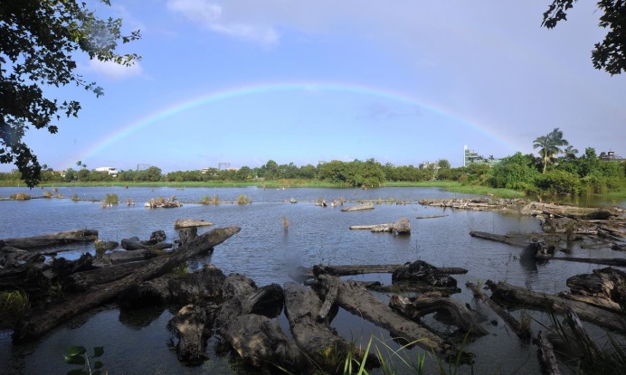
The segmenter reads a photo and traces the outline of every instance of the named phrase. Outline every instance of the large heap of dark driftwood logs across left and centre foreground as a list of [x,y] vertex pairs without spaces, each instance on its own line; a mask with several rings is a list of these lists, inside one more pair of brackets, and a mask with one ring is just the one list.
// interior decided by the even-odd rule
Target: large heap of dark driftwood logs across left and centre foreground
[[[186,363],[205,361],[207,339],[217,335],[253,366],[270,366],[273,370],[276,370],[274,366],[280,366],[294,373],[312,373],[319,368],[329,373],[342,372],[348,355],[365,361],[367,366],[378,365],[375,356],[370,354],[365,358],[365,352],[330,327],[339,307],[444,359],[457,358],[459,349],[436,329],[424,324],[424,315],[439,315],[456,326],[460,335],[486,333],[473,312],[450,297],[459,292],[451,274],[467,272],[462,268],[438,268],[422,261],[367,267],[319,266],[301,269],[300,282],[262,287],[242,275],[225,276],[212,265],[187,275],[171,272],[187,259],[211,251],[239,230],[238,227],[211,230],[181,241],[174,251],[153,252],[151,258],[132,262],[105,258],[99,264],[85,254],[76,261],[57,258],[52,265],[26,258],[20,265],[1,269],[2,290],[19,288],[33,298],[33,309],[14,327],[14,342],[33,340],[58,324],[111,301],[117,301],[122,311],[146,305],[182,306],[168,323],[168,329],[177,337],[175,348],[179,359]],[[94,240],[96,233],[86,233]],[[153,233],[153,240],[164,242],[161,235],[159,231]],[[13,249],[7,242],[17,244],[14,239],[6,240],[0,252]],[[140,251],[143,249],[122,253]],[[396,293],[401,290],[430,293],[413,298],[394,295],[386,305],[367,290],[384,290],[384,286],[341,278],[370,272],[393,273]],[[47,283],[41,282],[42,279],[48,280]],[[53,284],[64,286],[63,295],[52,295],[49,288]],[[277,330],[272,321],[283,310],[293,338]],[[334,355],[328,355],[329,352]],[[469,353],[462,353],[460,358],[471,361]]]

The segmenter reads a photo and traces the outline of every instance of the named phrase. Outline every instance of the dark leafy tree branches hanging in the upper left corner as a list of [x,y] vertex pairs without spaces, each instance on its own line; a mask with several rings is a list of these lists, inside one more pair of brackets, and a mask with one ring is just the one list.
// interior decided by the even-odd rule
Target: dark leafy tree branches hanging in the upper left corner
[[[106,5],[109,0],[101,0]],[[45,87],[75,84],[93,92],[103,90],[76,70],[76,53],[90,59],[130,66],[139,57],[119,54],[119,42],[140,38],[138,31],[121,34],[121,19],[98,18],[75,0],[0,2],[0,163],[15,164],[29,187],[40,182],[41,165],[22,138],[30,127],[58,131],[62,115],[77,117],[81,104],[49,98]]]

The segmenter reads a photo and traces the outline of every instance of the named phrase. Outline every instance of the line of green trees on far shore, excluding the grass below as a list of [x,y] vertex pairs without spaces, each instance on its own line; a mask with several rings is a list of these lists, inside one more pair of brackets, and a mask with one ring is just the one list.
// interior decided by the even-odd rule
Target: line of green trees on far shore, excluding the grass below
[[[567,146],[563,148],[564,146]],[[597,194],[626,187],[626,163],[610,160],[607,155],[597,155],[587,147],[583,155],[563,138],[563,132],[555,128],[534,142],[537,155],[517,153],[500,159],[498,164],[477,163],[452,168],[441,159],[422,168],[414,165],[380,164],[375,159],[342,162],[333,160],[318,165],[297,166],[293,163],[278,164],[273,160],[260,167],[243,166],[239,169],[220,170],[208,168],[202,171],[176,171],[162,173],[151,166],[143,170],[119,171],[117,176],[87,169],[77,163],[64,173],[54,172],[43,165],[42,178],[46,183],[210,183],[244,182],[264,180],[317,180],[342,187],[379,187],[384,183],[426,181],[456,181],[461,184],[506,188],[526,194]],[[0,181],[19,181],[19,173],[0,174]]]

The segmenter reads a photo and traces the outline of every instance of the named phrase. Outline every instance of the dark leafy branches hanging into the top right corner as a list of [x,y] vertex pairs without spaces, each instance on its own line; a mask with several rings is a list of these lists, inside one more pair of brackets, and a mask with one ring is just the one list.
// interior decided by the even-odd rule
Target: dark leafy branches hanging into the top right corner
[[[542,26],[552,29],[559,21],[567,20],[567,11],[576,0],[554,0],[544,13]],[[600,23],[608,30],[602,42],[595,43],[592,52],[593,67],[607,73],[621,74],[626,70],[626,2],[600,0]]]

